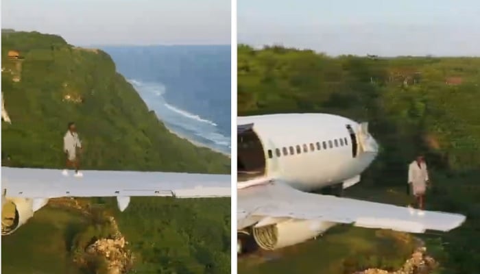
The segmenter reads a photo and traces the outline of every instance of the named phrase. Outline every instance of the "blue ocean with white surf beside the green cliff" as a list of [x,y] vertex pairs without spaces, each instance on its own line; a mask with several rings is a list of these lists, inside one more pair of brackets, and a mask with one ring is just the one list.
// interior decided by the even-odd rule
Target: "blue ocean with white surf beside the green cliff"
[[99,48],[167,128],[230,155],[230,45]]

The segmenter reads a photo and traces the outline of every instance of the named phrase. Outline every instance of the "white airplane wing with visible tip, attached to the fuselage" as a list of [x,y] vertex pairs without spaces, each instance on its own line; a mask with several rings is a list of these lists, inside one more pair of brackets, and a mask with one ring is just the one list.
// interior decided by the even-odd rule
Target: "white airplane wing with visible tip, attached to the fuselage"
[[260,220],[257,225],[275,219],[301,219],[423,233],[427,229],[447,232],[465,221],[460,214],[424,211],[419,215],[385,203],[302,192],[276,181],[239,189],[237,195],[238,229],[252,225],[247,219]]

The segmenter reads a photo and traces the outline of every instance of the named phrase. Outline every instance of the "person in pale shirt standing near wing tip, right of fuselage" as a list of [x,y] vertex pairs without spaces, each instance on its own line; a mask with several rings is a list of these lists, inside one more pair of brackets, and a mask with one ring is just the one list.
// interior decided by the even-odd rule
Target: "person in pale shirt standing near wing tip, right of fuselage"
[[423,155],[419,155],[416,160],[409,164],[408,183],[411,194],[416,197],[418,208],[423,210],[424,195],[427,190],[427,184],[429,183],[429,173]]

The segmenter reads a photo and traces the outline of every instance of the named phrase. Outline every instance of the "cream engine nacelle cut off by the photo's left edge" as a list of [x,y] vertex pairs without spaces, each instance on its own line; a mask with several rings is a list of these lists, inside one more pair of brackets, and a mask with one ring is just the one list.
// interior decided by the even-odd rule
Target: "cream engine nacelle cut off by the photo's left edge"
[[2,197],[1,234],[12,234],[34,216],[34,212],[48,203],[49,199],[25,199]]

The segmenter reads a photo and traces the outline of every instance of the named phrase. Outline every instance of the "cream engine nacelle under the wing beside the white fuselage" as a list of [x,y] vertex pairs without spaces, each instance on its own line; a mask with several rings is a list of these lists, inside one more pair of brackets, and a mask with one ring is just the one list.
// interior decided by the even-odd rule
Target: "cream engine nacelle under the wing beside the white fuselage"
[[275,250],[296,245],[322,234],[335,223],[290,219],[274,225],[253,227],[252,234],[259,247]]

